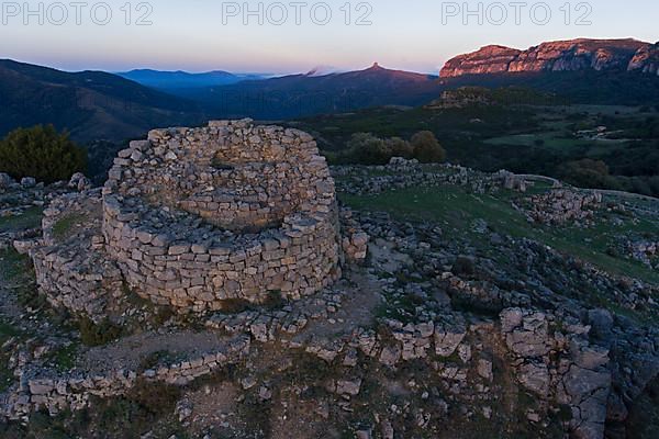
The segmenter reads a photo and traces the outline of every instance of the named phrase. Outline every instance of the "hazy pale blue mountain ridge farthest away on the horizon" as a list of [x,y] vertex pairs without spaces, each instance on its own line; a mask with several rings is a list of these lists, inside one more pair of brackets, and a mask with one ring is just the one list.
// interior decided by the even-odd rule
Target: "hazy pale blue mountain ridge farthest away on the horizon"
[[189,74],[187,71],[160,71],[150,69],[131,70],[116,74],[123,78],[138,82],[146,87],[163,90],[226,86],[248,79],[263,79],[260,75],[235,75],[228,71],[214,70],[203,74]]

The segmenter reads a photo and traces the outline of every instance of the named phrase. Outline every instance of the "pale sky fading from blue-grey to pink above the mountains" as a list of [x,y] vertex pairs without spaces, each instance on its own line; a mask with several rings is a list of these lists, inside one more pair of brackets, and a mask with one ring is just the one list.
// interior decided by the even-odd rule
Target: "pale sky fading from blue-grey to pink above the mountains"
[[[293,0],[294,1],[294,0]],[[126,25],[121,8],[126,0],[105,0],[111,7],[112,20],[107,25],[91,21],[90,1],[82,9],[81,24],[76,24],[75,9],[64,0],[69,12],[68,21],[62,25],[48,23],[47,16],[40,25],[38,16],[27,16],[24,11],[19,16],[0,19],[0,58],[11,58],[26,63],[52,66],[64,70],[99,69],[121,71],[133,68],[156,68],[188,71],[223,69],[234,72],[300,72],[314,66],[332,66],[336,69],[358,69],[373,61],[389,68],[400,68],[424,72],[437,72],[443,64],[454,55],[471,52],[488,44],[502,44],[527,48],[544,41],[574,37],[635,37],[657,42],[659,40],[659,1],[616,0],[591,1],[590,25],[577,25],[580,13],[574,11],[580,1],[571,2],[570,24],[566,24],[560,8],[567,0],[546,0],[551,10],[551,20],[539,25],[530,19],[530,5],[522,9],[521,24],[515,23],[514,9],[503,0],[509,13],[507,20],[496,25],[478,23],[477,16],[462,23],[462,15],[445,18],[443,24],[443,2],[439,0],[375,0],[370,2],[371,25],[357,26],[354,21],[359,15],[355,9],[359,0],[350,3],[353,24],[344,23],[340,11],[346,0],[326,0],[333,12],[327,25],[311,21],[311,5],[302,10],[302,23],[294,22],[294,8],[287,5],[289,20],[282,25],[266,21],[259,25],[257,18],[250,18],[248,25],[243,18],[227,18],[223,24],[223,3],[220,0],[157,0],[152,1],[152,25]],[[22,1],[15,4],[21,3]],[[37,9],[38,2],[27,2]],[[44,2],[47,7],[54,2]],[[134,11],[139,0],[132,3]],[[243,1],[236,4],[243,8]],[[257,9],[258,1],[248,1]],[[264,7],[273,3],[264,1]],[[446,2],[450,3],[450,2]],[[482,3],[485,11],[493,8],[492,18],[500,20],[495,1],[468,1],[476,10]],[[8,2],[1,2],[7,12]],[[463,2],[455,2],[462,9]],[[11,9],[11,8],[10,8]],[[60,10],[52,9],[53,19],[60,19]],[[365,11],[365,10],[362,10]],[[543,20],[541,9],[536,19]],[[98,9],[97,18],[103,19],[103,10]],[[277,12],[273,10],[273,12]],[[319,20],[323,19],[317,9]],[[585,9],[581,9],[585,12]],[[44,11],[44,15],[46,15]],[[483,13],[484,15],[484,13]],[[275,16],[279,19],[279,14]]]

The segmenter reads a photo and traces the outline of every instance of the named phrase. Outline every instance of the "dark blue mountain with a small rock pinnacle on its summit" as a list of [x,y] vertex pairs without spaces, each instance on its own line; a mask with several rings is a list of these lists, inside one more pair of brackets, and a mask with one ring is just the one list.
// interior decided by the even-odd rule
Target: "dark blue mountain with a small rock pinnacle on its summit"
[[273,120],[378,105],[421,105],[436,98],[440,89],[436,76],[390,70],[376,63],[358,71],[323,75],[312,70],[306,75],[177,90],[176,94],[224,116]]

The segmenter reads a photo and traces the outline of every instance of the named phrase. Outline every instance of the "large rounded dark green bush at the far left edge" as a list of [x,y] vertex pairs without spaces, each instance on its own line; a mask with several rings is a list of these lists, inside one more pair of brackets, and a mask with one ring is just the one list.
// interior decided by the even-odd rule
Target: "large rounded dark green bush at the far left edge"
[[0,172],[52,183],[85,171],[87,153],[53,125],[16,128],[0,140]]

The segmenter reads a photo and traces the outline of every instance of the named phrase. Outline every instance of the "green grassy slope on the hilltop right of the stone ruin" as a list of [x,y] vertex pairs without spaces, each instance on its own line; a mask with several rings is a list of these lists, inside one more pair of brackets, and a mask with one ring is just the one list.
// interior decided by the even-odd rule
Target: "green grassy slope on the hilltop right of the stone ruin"
[[611,273],[659,283],[659,273],[656,271],[639,262],[606,254],[606,249],[614,244],[621,232],[649,233],[659,236],[659,224],[656,221],[644,217],[636,224],[627,219],[621,226],[597,221],[591,228],[539,226],[529,224],[521,212],[513,209],[511,205],[513,196],[515,195],[510,193],[496,198],[488,194],[474,195],[460,188],[442,187],[412,188],[366,196],[342,194],[340,199],[358,210],[386,211],[407,221],[437,222],[456,236],[469,237],[476,245],[488,250],[490,246],[488,236],[479,235],[472,227],[476,219],[482,218],[494,232],[544,243]]

